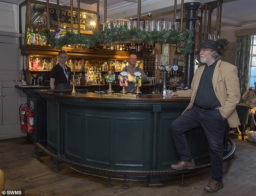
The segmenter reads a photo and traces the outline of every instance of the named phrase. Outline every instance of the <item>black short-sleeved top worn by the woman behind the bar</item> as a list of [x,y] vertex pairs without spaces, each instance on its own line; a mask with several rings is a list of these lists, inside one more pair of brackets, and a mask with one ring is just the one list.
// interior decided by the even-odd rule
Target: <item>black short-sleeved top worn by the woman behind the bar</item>
[[60,66],[60,64],[57,64],[56,66],[54,66],[52,68],[50,78],[55,78],[55,85],[58,85],[61,83],[70,83],[71,69],[68,66],[66,66],[66,68],[67,68],[68,80],[67,80],[66,75],[64,74],[63,68]]

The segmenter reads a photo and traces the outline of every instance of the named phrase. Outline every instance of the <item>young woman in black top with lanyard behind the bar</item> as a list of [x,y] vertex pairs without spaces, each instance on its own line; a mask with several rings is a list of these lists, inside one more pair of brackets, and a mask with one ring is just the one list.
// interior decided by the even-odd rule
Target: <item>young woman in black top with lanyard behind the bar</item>
[[65,50],[61,50],[58,53],[59,63],[52,68],[50,74],[50,87],[55,89],[55,85],[58,84],[69,84],[71,79],[71,69],[66,66],[68,60],[68,54]]

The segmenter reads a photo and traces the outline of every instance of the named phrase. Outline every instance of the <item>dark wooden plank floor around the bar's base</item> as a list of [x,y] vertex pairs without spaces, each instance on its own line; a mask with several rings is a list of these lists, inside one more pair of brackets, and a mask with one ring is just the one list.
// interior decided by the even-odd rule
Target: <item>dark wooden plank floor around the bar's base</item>
[[[236,144],[235,157],[223,165],[224,188],[215,196],[256,195],[256,143],[242,141],[231,135]],[[0,140],[0,168],[5,173],[5,189],[24,189],[25,196],[206,196],[203,190],[211,170],[207,169],[184,177],[162,180],[162,187],[149,187],[145,181],[127,181],[128,189],[121,188],[123,180],[78,173],[65,165],[56,167],[50,157],[34,158],[34,145],[27,138]]]

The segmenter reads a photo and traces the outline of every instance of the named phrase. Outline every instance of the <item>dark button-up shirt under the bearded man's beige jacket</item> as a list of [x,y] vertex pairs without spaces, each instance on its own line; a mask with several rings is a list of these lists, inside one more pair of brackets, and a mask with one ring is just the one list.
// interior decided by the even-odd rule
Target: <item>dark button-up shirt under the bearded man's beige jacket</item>
[[213,90],[213,72],[217,61],[210,66],[205,66],[198,90],[196,91],[195,104],[200,107],[221,106]]

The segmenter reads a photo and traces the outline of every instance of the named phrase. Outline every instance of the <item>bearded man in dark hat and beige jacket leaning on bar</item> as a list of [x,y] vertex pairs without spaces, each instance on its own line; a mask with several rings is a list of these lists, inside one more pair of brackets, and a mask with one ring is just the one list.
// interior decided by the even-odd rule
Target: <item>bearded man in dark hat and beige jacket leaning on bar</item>
[[223,140],[227,122],[230,127],[240,125],[235,107],[239,103],[240,89],[237,67],[221,61],[221,51],[216,41],[206,39],[200,45],[200,66],[191,83],[191,89],[171,93],[172,97],[191,97],[182,116],[171,124],[171,134],[180,156],[172,164],[176,170],[194,169],[184,132],[201,126],[209,143],[211,179],[204,187],[208,192],[223,188]]

